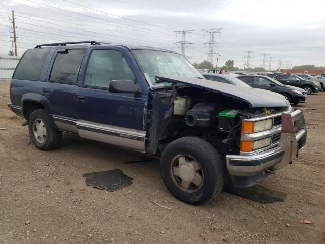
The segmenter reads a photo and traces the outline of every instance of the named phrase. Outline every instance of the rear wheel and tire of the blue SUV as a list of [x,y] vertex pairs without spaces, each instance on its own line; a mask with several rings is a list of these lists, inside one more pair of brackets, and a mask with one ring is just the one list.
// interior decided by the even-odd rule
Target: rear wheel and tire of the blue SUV
[[60,145],[62,133],[51,127],[44,109],[37,109],[31,113],[28,129],[30,139],[38,149],[48,151]]

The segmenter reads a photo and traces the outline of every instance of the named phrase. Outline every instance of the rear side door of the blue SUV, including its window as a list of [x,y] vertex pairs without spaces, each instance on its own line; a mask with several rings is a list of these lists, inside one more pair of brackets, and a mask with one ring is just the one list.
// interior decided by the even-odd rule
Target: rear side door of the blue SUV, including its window
[[43,95],[49,100],[56,126],[61,130],[77,132],[77,80],[85,48],[59,49],[48,72]]

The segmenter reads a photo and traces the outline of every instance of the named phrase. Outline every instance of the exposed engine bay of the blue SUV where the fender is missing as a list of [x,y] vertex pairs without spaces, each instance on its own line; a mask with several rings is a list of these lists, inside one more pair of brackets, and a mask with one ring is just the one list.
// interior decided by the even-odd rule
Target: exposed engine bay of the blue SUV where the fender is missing
[[242,119],[288,109],[250,108],[245,101],[231,95],[192,86],[173,85],[156,90],[152,96],[154,102],[149,105],[148,117],[151,153],[156,153],[157,148],[163,151],[165,144],[183,136],[205,139],[221,155],[239,153]]

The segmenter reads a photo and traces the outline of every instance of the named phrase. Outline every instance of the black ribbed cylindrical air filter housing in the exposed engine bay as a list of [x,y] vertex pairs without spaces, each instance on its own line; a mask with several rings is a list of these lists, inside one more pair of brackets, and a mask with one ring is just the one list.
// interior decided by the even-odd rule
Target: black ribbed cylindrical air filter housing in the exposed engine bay
[[215,103],[198,103],[186,114],[186,125],[210,127],[215,123]]

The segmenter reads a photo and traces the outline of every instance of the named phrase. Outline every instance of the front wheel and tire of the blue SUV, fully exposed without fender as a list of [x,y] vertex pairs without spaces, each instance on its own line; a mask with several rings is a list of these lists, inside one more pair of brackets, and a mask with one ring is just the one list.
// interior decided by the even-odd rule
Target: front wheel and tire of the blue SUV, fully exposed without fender
[[[180,165],[186,166],[180,169]],[[225,180],[225,164],[216,149],[197,137],[171,142],[161,155],[160,171],[168,190],[189,204],[211,201],[221,192]]]

